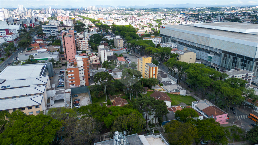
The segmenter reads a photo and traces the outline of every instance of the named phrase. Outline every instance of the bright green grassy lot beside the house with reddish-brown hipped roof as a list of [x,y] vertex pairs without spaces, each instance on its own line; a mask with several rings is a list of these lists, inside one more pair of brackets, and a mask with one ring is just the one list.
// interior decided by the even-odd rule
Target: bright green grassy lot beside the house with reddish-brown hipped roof
[[[150,96],[150,94],[152,94],[153,92],[149,91],[146,93],[147,96]],[[183,102],[189,106],[192,105],[192,101],[196,101],[196,99],[194,99],[191,96],[180,96],[180,95],[175,95],[175,94],[169,94],[167,93],[167,95],[170,97],[171,99],[171,105],[178,105],[179,102]]]

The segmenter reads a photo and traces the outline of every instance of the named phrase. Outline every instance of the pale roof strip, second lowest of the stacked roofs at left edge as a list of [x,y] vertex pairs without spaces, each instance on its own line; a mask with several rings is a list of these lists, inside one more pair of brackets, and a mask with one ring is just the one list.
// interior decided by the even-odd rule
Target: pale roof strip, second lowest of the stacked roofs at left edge
[[[26,96],[31,94],[44,93],[46,85],[32,85],[30,87],[22,87],[15,89],[6,89],[0,91],[0,98],[16,97],[16,96]],[[1,100],[2,101],[2,100]]]

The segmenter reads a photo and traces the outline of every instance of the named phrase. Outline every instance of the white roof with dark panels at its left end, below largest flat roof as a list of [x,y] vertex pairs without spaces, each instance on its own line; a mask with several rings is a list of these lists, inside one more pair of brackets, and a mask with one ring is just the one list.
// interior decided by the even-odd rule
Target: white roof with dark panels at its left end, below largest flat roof
[[[5,88],[16,88],[16,87],[26,87],[30,85],[43,85],[48,81],[49,76],[40,76],[40,77],[30,77],[30,78],[21,78],[15,80],[7,80],[0,84],[0,89]],[[9,86],[9,87],[5,87]]]

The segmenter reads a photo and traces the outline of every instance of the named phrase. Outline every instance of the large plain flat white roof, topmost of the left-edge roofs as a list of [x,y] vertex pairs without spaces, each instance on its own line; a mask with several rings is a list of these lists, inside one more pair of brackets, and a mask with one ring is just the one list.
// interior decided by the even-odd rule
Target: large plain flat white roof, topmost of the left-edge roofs
[[7,66],[1,73],[0,78],[5,80],[14,80],[28,77],[38,77],[44,65],[28,66]]

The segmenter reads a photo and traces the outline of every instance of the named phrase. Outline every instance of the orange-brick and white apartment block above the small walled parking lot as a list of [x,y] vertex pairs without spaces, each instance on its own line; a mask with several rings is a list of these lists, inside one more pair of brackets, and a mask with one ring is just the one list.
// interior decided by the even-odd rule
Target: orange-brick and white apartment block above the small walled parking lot
[[75,55],[75,58],[67,62],[69,86],[83,87],[89,85],[89,58],[86,54]]

